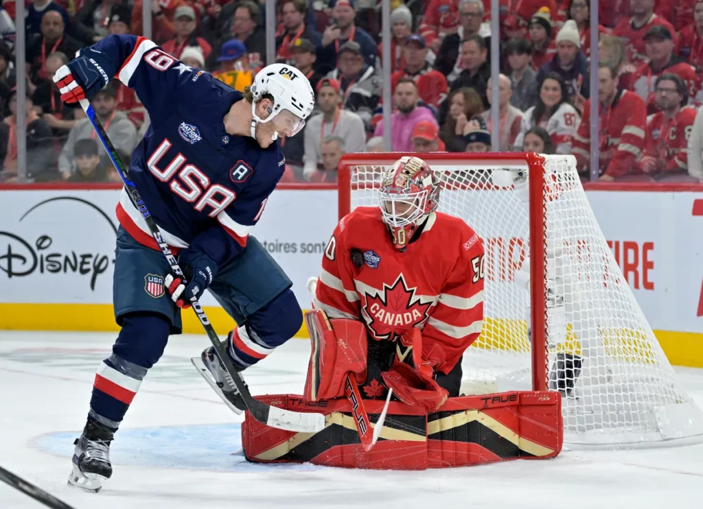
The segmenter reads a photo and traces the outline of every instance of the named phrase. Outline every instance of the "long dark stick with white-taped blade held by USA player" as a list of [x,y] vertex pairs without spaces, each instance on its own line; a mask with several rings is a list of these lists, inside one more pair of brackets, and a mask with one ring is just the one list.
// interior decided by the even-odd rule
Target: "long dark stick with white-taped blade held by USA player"
[[[87,99],[82,99],[80,104],[83,111],[86,112],[86,117],[88,117],[90,123],[93,125],[98,138],[100,138],[103,147],[105,147],[105,150],[108,152],[110,160],[112,160],[112,164],[115,166],[117,173],[120,175],[122,183],[124,183],[124,188],[127,190],[127,194],[129,194],[129,199],[146,221],[146,225],[149,227],[151,236],[154,237],[157,246],[159,246],[159,249],[166,257],[166,261],[171,267],[171,270],[177,275],[183,277],[183,271],[181,270],[181,267],[179,267],[176,257],[171,252],[171,249],[169,249],[168,244],[166,244],[164,239],[161,237],[161,232],[159,231],[158,225],[156,224],[154,218],[151,217],[149,209],[147,208],[146,203],[144,203],[141,194],[139,194],[136,185],[134,185],[134,182],[130,180],[128,170],[124,167],[122,161],[120,161],[120,156],[117,155],[115,147],[112,146],[112,142],[110,142],[110,138],[108,138],[108,133],[105,133],[105,128],[103,128],[103,124],[101,124],[100,119],[96,117],[93,107]],[[249,392],[249,389],[242,381],[242,378],[238,374],[234,364],[232,364],[229,359],[225,349],[221,346],[215,329],[212,324],[210,324],[209,319],[207,319],[207,315],[205,315],[205,310],[202,309],[202,306],[198,300],[193,300],[191,302],[191,306],[193,307],[193,311],[198,317],[200,324],[202,324],[202,328],[205,329],[205,333],[207,333],[207,337],[209,338],[210,343],[212,343],[212,346],[217,353],[217,357],[219,357],[221,362],[226,367],[226,379],[228,383],[233,383],[236,385],[236,388],[239,390],[240,395],[247,406],[247,410],[250,411],[252,417],[260,423],[269,425],[272,428],[278,428],[280,430],[316,432],[325,428],[325,416],[323,414],[279,409],[276,406],[271,406],[260,402],[258,399],[254,399]]]

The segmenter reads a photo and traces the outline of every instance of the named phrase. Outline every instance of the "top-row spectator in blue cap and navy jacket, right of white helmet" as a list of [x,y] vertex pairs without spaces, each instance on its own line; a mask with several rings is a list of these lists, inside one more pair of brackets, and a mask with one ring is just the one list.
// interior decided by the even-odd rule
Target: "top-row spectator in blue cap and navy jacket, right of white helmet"
[[330,72],[337,67],[337,57],[347,42],[359,46],[359,54],[368,67],[376,65],[376,43],[363,29],[354,25],[354,1],[331,0],[332,17],[336,23],[328,26],[322,34],[321,48],[317,53],[321,72]]

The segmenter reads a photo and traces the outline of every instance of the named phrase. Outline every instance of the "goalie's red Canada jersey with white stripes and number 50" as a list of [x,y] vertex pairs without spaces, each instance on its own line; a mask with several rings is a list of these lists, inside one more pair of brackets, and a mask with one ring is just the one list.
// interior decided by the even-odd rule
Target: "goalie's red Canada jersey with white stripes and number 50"
[[421,329],[423,359],[447,374],[481,333],[484,263],[482,239],[459,218],[431,213],[401,253],[380,209],[359,207],[330,238],[313,305],[330,318],[363,320],[379,341]]

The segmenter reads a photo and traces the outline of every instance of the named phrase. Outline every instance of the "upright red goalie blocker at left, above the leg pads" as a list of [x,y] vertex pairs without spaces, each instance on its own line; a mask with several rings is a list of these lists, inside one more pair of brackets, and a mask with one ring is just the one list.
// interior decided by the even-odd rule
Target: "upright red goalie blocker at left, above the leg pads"
[[366,328],[358,320],[328,319],[322,310],[305,314],[312,350],[304,399],[318,401],[344,396],[349,372],[356,383],[366,379]]

